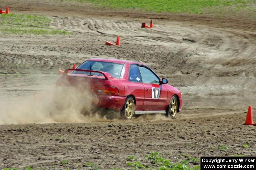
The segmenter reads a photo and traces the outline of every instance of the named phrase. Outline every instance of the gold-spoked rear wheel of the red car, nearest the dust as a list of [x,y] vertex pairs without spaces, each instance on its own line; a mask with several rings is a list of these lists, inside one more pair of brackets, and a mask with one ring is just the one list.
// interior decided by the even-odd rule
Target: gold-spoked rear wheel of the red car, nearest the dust
[[127,97],[123,104],[123,109],[121,110],[121,116],[126,120],[131,120],[134,115],[135,104],[133,97]]

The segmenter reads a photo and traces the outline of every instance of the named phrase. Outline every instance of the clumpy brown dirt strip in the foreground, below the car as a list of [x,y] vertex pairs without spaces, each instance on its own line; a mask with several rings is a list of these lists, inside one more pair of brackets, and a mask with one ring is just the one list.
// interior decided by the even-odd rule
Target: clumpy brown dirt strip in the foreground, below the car
[[[0,147],[5,159],[0,159],[2,166],[22,167],[25,163],[33,168],[63,168],[61,160],[68,160],[69,168],[93,162],[98,168],[107,169],[129,168],[127,155],[143,161],[151,150],[171,161],[183,153],[194,157],[253,156],[254,138],[248,134],[253,127],[241,125],[244,116],[239,113],[175,121],[3,125]],[[248,150],[241,147],[245,139],[251,145]],[[218,149],[222,144],[229,149]]]

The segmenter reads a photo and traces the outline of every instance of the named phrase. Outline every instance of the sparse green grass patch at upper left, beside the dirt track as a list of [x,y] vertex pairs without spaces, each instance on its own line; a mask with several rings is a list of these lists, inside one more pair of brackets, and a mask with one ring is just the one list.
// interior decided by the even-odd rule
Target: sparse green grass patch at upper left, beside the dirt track
[[68,31],[51,29],[51,19],[39,15],[1,14],[0,32],[4,34],[62,35]]

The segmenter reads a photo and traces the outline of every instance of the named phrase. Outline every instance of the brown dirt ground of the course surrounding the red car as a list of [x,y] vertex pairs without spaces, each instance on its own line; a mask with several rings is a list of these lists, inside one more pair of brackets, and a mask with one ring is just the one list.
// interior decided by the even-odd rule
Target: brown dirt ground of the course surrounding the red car
[[[7,3],[11,12],[46,15],[52,28],[73,34],[0,32],[0,168],[79,168],[77,163],[83,162],[94,162],[99,169],[129,168],[127,155],[143,161],[150,151],[173,162],[183,159],[182,154],[255,156],[255,126],[242,125],[248,105],[254,108],[256,102],[255,19],[111,11],[43,0],[1,4]],[[140,28],[149,19],[155,28]],[[153,115],[128,122],[70,119],[72,112],[67,119],[47,115],[58,68],[88,59],[93,34],[92,57],[146,63],[182,91],[183,110],[176,119]],[[104,45],[116,36],[120,46]],[[34,94],[39,103],[33,103]],[[245,143],[250,147],[242,147]],[[69,164],[62,166],[61,160]]]

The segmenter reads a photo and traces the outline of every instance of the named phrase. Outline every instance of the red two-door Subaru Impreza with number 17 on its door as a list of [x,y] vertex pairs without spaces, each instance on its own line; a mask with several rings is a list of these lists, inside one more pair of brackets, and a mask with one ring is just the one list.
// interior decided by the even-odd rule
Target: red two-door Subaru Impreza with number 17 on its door
[[66,69],[57,81],[89,82],[96,94],[97,107],[120,110],[121,116],[131,120],[134,115],[164,113],[175,118],[182,106],[182,93],[168,85],[147,65],[127,60],[89,59],[76,69]]

